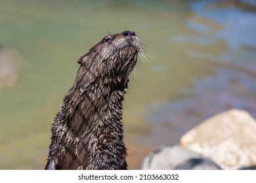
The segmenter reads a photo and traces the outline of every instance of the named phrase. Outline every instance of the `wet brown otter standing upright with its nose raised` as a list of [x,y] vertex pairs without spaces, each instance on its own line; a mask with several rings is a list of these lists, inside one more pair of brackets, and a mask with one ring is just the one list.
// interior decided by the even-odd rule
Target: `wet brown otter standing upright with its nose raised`
[[54,118],[45,169],[127,169],[121,109],[142,44],[133,31],[107,35],[80,63]]

